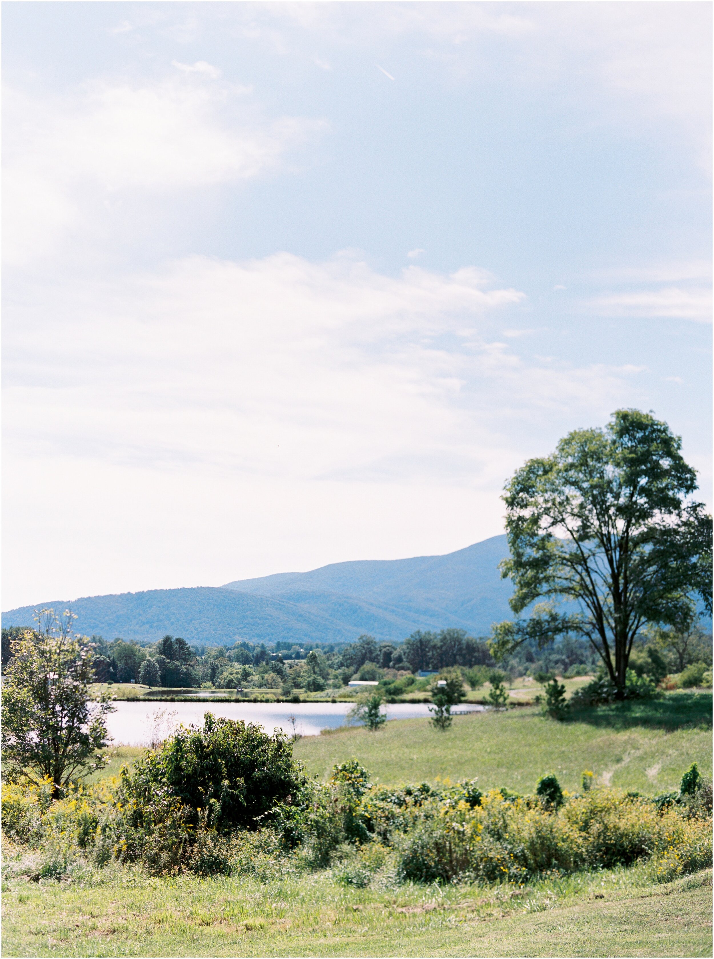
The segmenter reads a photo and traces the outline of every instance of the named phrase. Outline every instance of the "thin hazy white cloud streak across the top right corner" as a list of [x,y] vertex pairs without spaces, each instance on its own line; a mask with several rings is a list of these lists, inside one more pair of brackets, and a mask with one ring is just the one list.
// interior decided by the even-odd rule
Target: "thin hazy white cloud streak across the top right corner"
[[[707,165],[711,7],[694,3],[384,3],[235,5],[243,36],[285,54],[322,43],[395,57],[400,44],[449,82],[526,86],[574,122],[632,133],[676,122]],[[381,68],[380,68],[381,69]]]

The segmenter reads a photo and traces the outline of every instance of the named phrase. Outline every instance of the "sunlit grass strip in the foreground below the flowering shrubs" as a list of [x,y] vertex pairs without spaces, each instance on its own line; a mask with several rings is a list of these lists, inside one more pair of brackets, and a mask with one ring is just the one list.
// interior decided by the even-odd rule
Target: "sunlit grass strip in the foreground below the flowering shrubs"
[[77,885],[10,879],[3,893],[6,956],[711,955],[710,870],[357,890],[329,872],[260,883],[109,867]]

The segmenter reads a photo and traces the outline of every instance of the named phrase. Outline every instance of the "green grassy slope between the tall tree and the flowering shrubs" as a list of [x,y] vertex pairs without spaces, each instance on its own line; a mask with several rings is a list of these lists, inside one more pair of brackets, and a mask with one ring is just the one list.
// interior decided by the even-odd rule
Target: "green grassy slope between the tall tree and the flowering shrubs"
[[382,784],[477,776],[485,788],[530,792],[543,773],[555,772],[574,791],[590,769],[602,783],[656,794],[678,788],[694,761],[711,777],[711,693],[676,692],[650,703],[584,710],[563,723],[536,707],[472,713],[455,716],[446,733],[427,719],[403,719],[377,733],[345,728],[304,737],[294,755],[320,777],[354,757]]

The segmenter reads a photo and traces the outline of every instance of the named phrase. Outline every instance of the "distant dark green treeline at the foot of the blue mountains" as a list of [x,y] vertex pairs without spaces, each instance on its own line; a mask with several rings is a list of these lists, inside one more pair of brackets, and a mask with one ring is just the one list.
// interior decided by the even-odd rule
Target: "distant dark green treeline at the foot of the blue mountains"
[[[12,638],[25,632],[3,629],[3,668],[12,656]],[[103,683],[142,683],[150,687],[204,689],[327,690],[351,679],[398,679],[407,673],[440,671],[449,667],[495,667],[488,641],[463,629],[439,632],[417,630],[403,643],[380,643],[360,636],[355,643],[249,643],[232,646],[189,644],[181,637],[164,636],[157,643],[139,644],[101,636],[91,637],[96,651],[96,679]],[[633,648],[631,665],[656,682],[668,673],[688,667],[710,667],[711,634],[699,627],[686,632],[651,630]],[[497,664],[513,682],[525,674],[586,675],[599,666],[590,643],[566,636],[547,649],[523,643]]]

